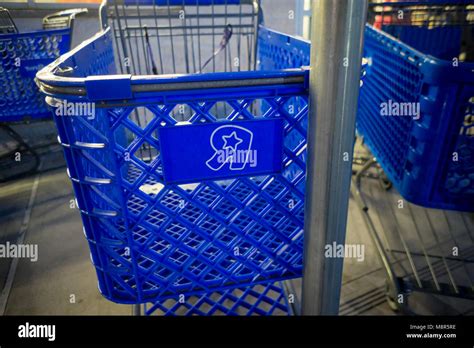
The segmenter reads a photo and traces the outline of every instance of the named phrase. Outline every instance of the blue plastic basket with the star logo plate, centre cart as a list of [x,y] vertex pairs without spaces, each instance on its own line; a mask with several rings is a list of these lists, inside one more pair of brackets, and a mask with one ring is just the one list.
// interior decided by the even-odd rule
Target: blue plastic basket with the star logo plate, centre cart
[[[301,276],[307,71],[115,75],[112,42],[105,29],[37,75],[56,101],[96,106],[91,118],[54,105],[102,294],[230,296]],[[242,142],[254,167],[216,165]]]

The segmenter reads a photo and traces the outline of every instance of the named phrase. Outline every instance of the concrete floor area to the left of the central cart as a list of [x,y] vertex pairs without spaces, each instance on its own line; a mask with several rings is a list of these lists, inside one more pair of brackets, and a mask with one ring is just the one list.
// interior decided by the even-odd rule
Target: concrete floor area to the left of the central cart
[[[45,169],[63,165],[60,151],[55,146],[42,156]],[[37,262],[19,261],[5,314],[130,314],[130,306],[111,303],[99,294],[80,214],[70,208],[74,195],[64,166],[1,186],[2,240],[16,239],[36,178],[24,243],[37,244],[40,257]],[[0,264],[5,283],[10,263]]]

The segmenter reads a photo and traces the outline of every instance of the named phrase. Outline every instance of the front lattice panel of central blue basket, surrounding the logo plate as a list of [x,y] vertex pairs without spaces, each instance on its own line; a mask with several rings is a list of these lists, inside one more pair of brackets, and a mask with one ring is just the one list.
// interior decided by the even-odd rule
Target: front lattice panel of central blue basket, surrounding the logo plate
[[[307,105],[290,113],[288,104],[307,104],[307,95],[301,89],[279,89],[275,97],[277,87],[269,86],[261,91],[265,96],[259,96],[246,92],[248,88],[251,86],[235,91],[203,90],[202,95],[193,97],[177,91],[173,98],[179,101],[157,96],[156,103],[140,106],[148,111],[147,122],[141,127],[133,110],[108,110],[111,124],[124,126],[128,134],[126,146],[115,146],[127,205],[126,226],[117,221],[115,229],[127,230],[122,240],[130,245],[132,255],[127,259],[125,250],[110,246],[108,269],[127,270],[114,279],[115,300],[176,299],[180,294],[190,296],[301,275]],[[262,103],[269,105],[264,114],[258,107]],[[177,126],[182,115],[175,111],[181,105],[193,110],[186,121],[190,127],[281,119],[282,171],[191,184],[167,183],[162,161],[167,150],[159,141],[159,128]],[[296,134],[301,141],[288,142]],[[269,136],[254,133],[254,137]],[[133,288],[136,279],[137,292],[131,296],[123,288]]]

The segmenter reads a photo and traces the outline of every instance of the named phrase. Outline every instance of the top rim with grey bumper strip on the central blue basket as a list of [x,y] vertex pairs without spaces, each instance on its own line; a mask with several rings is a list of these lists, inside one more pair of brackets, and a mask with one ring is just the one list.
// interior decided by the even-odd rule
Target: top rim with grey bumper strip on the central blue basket
[[[113,99],[123,100],[133,98],[134,93],[146,92],[173,92],[177,90],[191,90],[202,88],[232,88],[242,86],[268,86],[304,84],[307,86],[307,68],[285,69],[274,71],[244,71],[244,72],[217,72],[203,74],[168,74],[168,75],[94,75],[88,77],[65,76],[62,66],[73,58],[86,46],[94,44],[110,31],[107,28],[90,39],[85,40],[73,50],[62,55],[36,74],[36,83],[41,91],[49,96],[88,97],[95,99],[91,90],[94,84],[117,89],[117,96]],[[122,88],[118,91],[117,85]],[[125,88],[125,89],[124,89]],[[91,90],[88,90],[91,89]],[[97,96],[97,100],[101,100]]]

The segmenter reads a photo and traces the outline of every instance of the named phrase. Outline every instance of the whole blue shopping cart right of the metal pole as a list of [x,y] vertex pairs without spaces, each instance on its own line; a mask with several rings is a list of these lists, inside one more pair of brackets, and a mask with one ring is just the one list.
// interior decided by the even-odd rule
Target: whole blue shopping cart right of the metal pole
[[[472,1],[370,7],[357,130],[372,155],[356,175],[353,196],[386,270],[394,309],[406,310],[413,291],[474,299],[473,21]],[[359,190],[361,175],[377,163],[416,204],[379,195],[371,204],[389,217],[381,233],[368,211],[377,194]]]

